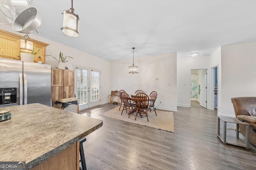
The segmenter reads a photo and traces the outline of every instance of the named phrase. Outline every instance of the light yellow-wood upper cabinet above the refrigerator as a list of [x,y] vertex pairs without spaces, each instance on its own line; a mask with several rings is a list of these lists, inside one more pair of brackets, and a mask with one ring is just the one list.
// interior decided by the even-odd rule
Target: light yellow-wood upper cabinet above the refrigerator
[[[22,36],[10,33],[0,29],[0,57],[17,59],[20,60],[20,38]],[[41,56],[42,63],[45,63],[45,50],[46,46],[49,44],[42,43],[40,41],[33,41],[33,46],[35,45],[35,50],[40,51],[34,55],[34,62],[37,62],[38,56]]]

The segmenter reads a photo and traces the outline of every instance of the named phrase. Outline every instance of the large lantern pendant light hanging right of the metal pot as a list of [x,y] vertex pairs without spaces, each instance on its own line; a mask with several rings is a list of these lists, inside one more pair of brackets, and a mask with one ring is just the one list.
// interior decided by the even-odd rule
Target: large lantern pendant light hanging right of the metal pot
[[78,37],[79,17],[74,14],[73,0],[71,0],[70,10],[63,11],[62,13],[62,33],[70,37]]

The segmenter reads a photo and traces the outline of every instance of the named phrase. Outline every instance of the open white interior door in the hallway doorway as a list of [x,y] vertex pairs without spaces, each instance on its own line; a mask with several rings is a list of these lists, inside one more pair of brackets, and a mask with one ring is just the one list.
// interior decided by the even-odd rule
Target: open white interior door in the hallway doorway
[[201,74],[200,86],[200,106],[207,107],[207,70],[203,70]]

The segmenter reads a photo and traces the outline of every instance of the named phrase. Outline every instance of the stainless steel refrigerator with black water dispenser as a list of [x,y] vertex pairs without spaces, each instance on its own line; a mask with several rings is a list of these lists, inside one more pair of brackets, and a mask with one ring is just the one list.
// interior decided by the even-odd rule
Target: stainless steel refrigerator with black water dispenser
[[0,107],[51,106],[51,66],[0,58]]

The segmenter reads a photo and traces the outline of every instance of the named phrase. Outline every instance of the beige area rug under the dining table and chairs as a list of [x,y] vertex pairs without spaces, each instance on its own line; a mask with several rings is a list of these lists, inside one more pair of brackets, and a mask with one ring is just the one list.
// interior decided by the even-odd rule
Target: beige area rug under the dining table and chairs
[[128,118],[128,114],[125,110],[123,111],[122,115],[121,113],[122,107],[120,111],[119,107],[115,107],[114,109],[111,109],[105,113],[100,114],[100,116],[110,117],[112,119],[118,119],[122,121],[128,121],[131,123],[145,125],[148,127],[154,127],[156,129],[161,129],[164,131],[170,131],[174,133],[174,117],[173,113],[170,111],[156,110],[157,116],[154,111],[148,111],[148,121],[147,117],[144,114],[142,114],[142,118],[140,117],[140,115],[138,115],[135,121],[135,112],[130,114],[130,118]]

